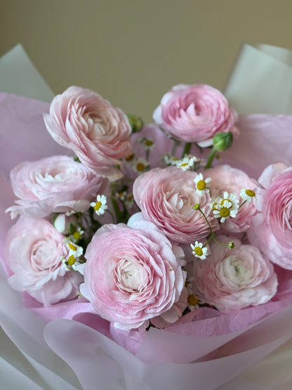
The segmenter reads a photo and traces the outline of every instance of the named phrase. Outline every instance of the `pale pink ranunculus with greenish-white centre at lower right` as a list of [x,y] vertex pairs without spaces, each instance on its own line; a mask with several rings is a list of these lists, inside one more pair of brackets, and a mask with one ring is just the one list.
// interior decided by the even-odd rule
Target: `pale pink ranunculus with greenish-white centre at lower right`
[[220,311],[237,311],[270,301],[278,285],[272,263],[258,248],[241,245],[237,238],[219,235],[218,240],[233,241],[235,247],[212,241],[207,259],[194,260],[192,287],[196,297]]

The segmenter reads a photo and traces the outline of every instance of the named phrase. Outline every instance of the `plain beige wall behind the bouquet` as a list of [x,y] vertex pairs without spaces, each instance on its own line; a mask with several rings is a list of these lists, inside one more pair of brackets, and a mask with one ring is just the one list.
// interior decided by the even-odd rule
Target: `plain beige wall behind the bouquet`
[[223,89],[244,41],[292,48],[291,0],[0,0],[0,7],[0,56],[20,42],[55,93],[84,86],[145,121],[174,84]]

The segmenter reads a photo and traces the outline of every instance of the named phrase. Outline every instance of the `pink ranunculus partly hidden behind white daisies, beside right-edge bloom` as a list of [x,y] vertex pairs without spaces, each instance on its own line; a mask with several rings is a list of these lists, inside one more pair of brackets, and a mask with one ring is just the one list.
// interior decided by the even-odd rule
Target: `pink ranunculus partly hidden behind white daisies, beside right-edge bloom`
[[[218,167],[206,169],[206,177],[211,178],[209,187],[212,197],[223,197],[224,192],[235,195],[239,204],[243,202],[240,196],[242,188],[245,190],[253,190],[256,195],[258,183],[250,178],[241,169],[230,167],[230,165],[218,165]],[[221,223],[220,228],[232,233],[240,233],[250,228],[253,216],[257,213],[256,202],[253,198],[251,202],[245,202],[237,212],[235,218],[228,218],[224,223]]]

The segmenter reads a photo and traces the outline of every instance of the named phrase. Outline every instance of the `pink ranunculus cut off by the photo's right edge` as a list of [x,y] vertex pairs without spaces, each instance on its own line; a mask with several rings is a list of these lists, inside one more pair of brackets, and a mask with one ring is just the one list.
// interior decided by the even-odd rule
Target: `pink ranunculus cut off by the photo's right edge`
[[292,269],[292,167],[272,164],[258,182],[258,209],[248,240],[275,264]]

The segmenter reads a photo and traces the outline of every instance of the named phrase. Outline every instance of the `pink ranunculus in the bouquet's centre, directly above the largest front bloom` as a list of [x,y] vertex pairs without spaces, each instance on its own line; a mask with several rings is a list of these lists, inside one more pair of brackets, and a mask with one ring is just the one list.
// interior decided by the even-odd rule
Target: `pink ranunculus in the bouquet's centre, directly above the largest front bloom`
[[190,244],[204,240],[210,230],[204,216],[194,210],[200,207],[213,231],[219,228],[210,207],[210,195],[197,194],[194,178],[197,174],[178,167],[152,169],[136,178],[133,186],[135,202],[142,216],[152,221],[174,242]]

